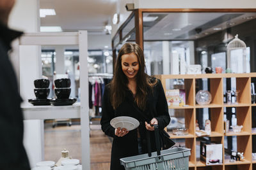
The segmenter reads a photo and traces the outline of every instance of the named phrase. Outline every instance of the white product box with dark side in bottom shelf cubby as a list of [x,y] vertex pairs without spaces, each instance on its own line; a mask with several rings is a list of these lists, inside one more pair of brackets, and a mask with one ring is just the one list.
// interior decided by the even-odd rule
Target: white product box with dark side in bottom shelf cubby
[[200,159],[206,166],[222,164],[222,144],[200,141]]

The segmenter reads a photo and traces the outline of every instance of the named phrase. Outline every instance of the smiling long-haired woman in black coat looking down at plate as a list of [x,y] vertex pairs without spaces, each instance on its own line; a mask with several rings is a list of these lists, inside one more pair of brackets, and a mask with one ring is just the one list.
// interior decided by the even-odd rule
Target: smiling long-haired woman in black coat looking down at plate
[[[112,127],[113,118],[132,117],[140,122],[128,131]],[[114,119],[115,120],[115,119]],[[140,46],[126,43],[116,59],[113,80],[106,86],[102,101],[102,131],[114,138],[110,169],[124,169],[120,159],[147,153],[147,141],[156,150],[154,124],[163,130],[170,122],[161,81],[145,73],[145,58]]]

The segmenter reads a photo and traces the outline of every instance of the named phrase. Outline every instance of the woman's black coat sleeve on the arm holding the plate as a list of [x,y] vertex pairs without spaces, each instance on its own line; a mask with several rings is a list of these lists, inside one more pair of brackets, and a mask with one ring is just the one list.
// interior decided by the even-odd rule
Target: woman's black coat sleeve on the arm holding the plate
[[103,100],[102,100],[102,117],[100,120],[100,125],[102,131],[114,138],[115,136],[115,128],[110,125],[110,120],[114,118],[114,110],[110,103],[110,97],[109,97],[109,88],[106,87],[103,94]]

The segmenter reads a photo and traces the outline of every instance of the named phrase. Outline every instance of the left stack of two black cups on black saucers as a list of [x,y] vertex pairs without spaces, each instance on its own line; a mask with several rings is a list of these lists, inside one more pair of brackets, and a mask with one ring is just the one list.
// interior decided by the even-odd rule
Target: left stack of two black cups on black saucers
[[34,93],[36,96],[36,99],[29,99],[29,103],[40,106],[40,105],[50,105],[50,99],[47,99],[49,96],[49,84],[50,81],[47,79],[37,79],[34,81],[35,89]]

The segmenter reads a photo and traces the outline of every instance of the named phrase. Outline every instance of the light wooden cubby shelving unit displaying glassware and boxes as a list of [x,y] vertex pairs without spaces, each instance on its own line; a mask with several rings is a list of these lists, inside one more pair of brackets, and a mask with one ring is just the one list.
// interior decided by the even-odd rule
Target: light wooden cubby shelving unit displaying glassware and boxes
[[[251,78],[256,78],[256,73],[241,74],[180,74],[180,75],[156,75],[163,84],[164,91],[166,89],[166,80],[168,79],[184,79],[184,89],[186,91],[186,106],[169,107],[170,109],[183,109],[185,113],[185,127],[188,128],[189,134],[186,136],[175,136],[170,133],[172,139],[185,139],[187,148],[191,148],[191,156],[189,157],[189,169],[244,169],[253,170],[256,167],[256,160],[252,160],[252,135],[256,135],[256,129],[252,129],[252,107],[251,104]],[[208,105],[200,106],[196,103],[196,80],[209,80],[209,92],[212,95],[212,101]],[[223,103],[223,79],[236,78],[236,88],[240,90],[239,101],[237,104]],[[235,107],[237,125],[243,125],[242,132],[224,133],[223,114],[224,108]],[[196,127],[196,111],[201,108],[209,108],[211,111],[211,137],[212,140],[218,141],[223,145],[223,164],[206,166],[205,162],[196,159],[196,139],[199,138],[195,134]],[[255,113],[253,113],[255,114]],[[225,159],[224,155],[224,138],[225,136],[235,136],[237,138],[237,152],[244,152],[245,159],[243,161],[230,162]]]

